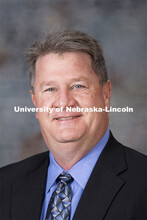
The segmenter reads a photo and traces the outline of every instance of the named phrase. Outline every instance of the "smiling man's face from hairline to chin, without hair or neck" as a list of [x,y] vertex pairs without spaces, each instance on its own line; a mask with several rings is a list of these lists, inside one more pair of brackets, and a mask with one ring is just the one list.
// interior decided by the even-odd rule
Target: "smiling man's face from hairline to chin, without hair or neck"
[[[47,146],[54,153],[84,147],[88,152],[108,127],[107,113],[66,112],[65,108],[109,107],[110,82],[100,85],[85,53],[40,56],[35,70],[33,103],[38,108],[54,108],[51,114],[36,113]],[[57,112],[56,108],[61,107],[63,111]]]

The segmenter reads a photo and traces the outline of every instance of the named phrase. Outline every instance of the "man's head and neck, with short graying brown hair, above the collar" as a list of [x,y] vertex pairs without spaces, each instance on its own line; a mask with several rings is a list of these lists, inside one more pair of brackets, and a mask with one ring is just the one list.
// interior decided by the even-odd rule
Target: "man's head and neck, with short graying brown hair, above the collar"
[[111,85],[102,50],[86,34],[65,31],[35,42],[28,57],[33,103],[54,109],[36,113],[44,140],[61,166],[66,160],[73,165],[108,128],[106,112],[66,112],[66,107],[109,108]]

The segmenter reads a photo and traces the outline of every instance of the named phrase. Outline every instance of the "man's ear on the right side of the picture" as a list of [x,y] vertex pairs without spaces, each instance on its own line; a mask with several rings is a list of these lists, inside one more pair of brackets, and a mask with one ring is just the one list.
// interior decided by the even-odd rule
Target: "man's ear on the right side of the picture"
[[111,82],[108,80],[102,88],[105,106],[107,109],[110,107],[110,96],[111,96]]

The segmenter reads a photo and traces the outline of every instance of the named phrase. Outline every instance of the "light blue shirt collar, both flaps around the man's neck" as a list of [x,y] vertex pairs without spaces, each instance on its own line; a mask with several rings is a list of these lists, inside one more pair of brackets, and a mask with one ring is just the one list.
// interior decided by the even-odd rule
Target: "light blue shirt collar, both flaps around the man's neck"
[[[109,133],[109,129],[107,129],[105,135],[100,139],[100,141],[68,171],[82,189],[85,188],[92,170],[109,139]],[[60,173],[65,171],[59,166],[59,164],[57,164],[51,152],[49,152],[49,157],[50,165],[48,167],[46,193],[55,183]]]

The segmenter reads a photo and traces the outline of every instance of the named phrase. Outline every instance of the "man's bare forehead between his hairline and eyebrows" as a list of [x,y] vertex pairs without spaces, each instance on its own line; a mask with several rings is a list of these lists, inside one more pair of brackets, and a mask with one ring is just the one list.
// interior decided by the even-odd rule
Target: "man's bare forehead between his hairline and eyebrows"
[[35,81],[69,82],[84,78],[89,81],[97,81],[98,78],[92,69],[91,57],[86,53],[49,53],[37,59]]

